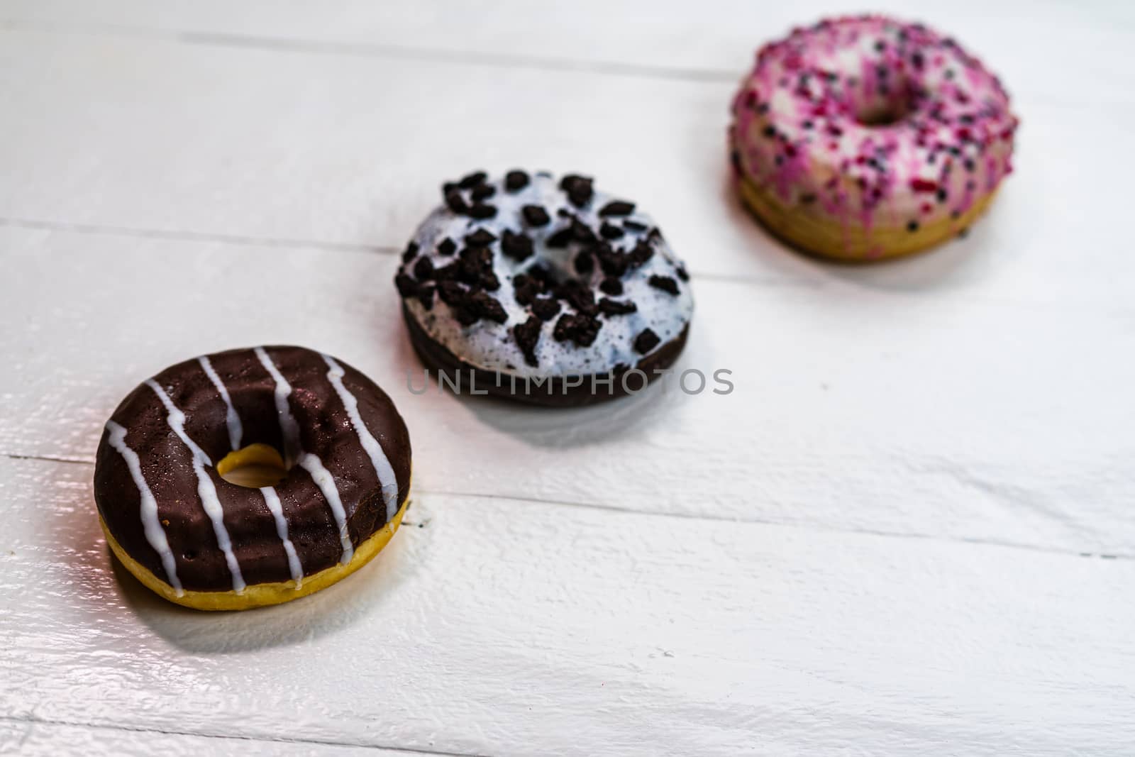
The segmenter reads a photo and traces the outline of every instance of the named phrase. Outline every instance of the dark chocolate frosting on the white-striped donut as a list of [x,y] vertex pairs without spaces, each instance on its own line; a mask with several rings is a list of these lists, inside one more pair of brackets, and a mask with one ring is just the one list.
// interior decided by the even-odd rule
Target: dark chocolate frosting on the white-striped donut
[[[257,348],[230,350],[178,363],[143,382],[123,399],[103,431],[94,471],[99,513],[127,554],[175,588],[179,583],[194,591],[230,591],[241,580],[255,584],[293,579],[294,563],[289,563],[279,523],[266,499],[270,493],[229,483],[215,468],[234,448],[262,443],[286,460],[309,456],[310,465],[293,464],[286,479],[275,487],[287,540],[303,575],[350,555],[340,539],[335,504],[342,505],[350,544],[358,546],[386,524],[410,493],[410,436],[381,389],[346,363],[311,350],[274,346],[263,347],[262,354],[289,385],[286,396]],[[208,368],[226,389],[228,402]],[[342,371],[340,377],[333,376],[336,370]],[[346,394],[335,380],[342,380]],[[354,413],[345,404],[351,397],[364,429],[352,422]],[[279,398],[295,419],[299,449],[286,449],[289,445],[281,419],[287,413],[278,412]],[[229,405],[238,423],[233,422]],[[188,441],[176,429],[178,411],[184,414]],[[119,441],[125,451],[112,439],[118,427],[125,429]],[[235,438],[237,431],[239,438]],[[370,437],[377,446],[368,451],[364,439]],[[199,465],[194,464],[193,446],[209,464],[201,464],[201,456]],[[132,453],[137,471],[131,470]],[[393,469],[395,481],[379,480],[376,455],[388,461],[389,468],[381,470]],[[329,502],[313,479],[309,468],[317,463],[330,474],[338,503]],[[212,502],[210,483],[220,505],[219,523],[207,507]],[[390,499],[395,487],[396,498]],[[146,489],[157,503],[157,521],[151,525],[160,523],[165,531],[175,566],[173,577],[154,547],[153,528],[150,536],[146,533]],[[389,507],[394,503],[396,506]],[[225,538],[230,542],[230,555],[221,547]],[[230,569],[230,557],[239,578]]]

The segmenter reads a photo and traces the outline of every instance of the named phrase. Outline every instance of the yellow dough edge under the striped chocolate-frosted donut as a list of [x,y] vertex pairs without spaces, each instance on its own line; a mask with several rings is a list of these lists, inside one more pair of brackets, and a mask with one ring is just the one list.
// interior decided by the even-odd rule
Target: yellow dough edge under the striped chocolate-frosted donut
[[299,590],[292,588],[292,581],[276,581],[272,583],[255,583],[245,587],[242,594],[237,594],[235,591],[192,591],[186,589],[182,596],[177,596],[177,591],[174,587],[154,575],[153,572],[131,557],[131,555],[123,549],[121,545],[118,544],[118,540],[110,533],[110,530],[107,528],[107,523],[102,520],[101,514],[99,515],[99,525],[102,528],[102,533],[107,537],[107,545],[110,547],[110,550],[115,554],[118,562],[121,563],[123,566],[129,571],[132,575],[134,575],[134,578],[161,598],[168,599],[176,605],[191,607],[193,609],[210,612],[234,611],[267,607],[269,605],[281,605],[286,602],[292,602],[293,599],[306,597],[310,594],[314,594],[342,581],[373,560],[373,557],[380,553],[384,547],[386,547],[386,545],[390,541],[390,538],[394,537],[394,533],[398,530],[398,527],[402,525],[402,516],[405,515],[409,506],[410,494],[407,493],[406,498],[402,502],[402,505],[398,507],[398,512],[394,514],[394,518],[388,523],[382,525],[382,528],[367,537],[362,544],[355,547],[354,556],[351,558],[351,562],[346,565],[331,565],[330,567],[325,567],[312,575],[305,575],[303,584]]

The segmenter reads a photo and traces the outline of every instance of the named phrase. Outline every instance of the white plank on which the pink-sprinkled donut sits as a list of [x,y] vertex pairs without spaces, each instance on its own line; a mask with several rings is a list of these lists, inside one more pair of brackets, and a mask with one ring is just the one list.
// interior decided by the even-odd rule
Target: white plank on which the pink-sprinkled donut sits
[[[1128,301],[1121,274],[1135,263],[1098,222],[1124,216],[1125,173],[1096,167],[1117,160],[1135,110],[1102,91],[1091,107],[1019,103],[1019,173],[969,238],[836,269],[785,252],[739,209],[724,148],[732,82],[27,31],[3,41],[9,221],[393,249],[440,180],[543,166],[638,200],[703,275]],[[1076,160],[1046,159],[1071,145]]]

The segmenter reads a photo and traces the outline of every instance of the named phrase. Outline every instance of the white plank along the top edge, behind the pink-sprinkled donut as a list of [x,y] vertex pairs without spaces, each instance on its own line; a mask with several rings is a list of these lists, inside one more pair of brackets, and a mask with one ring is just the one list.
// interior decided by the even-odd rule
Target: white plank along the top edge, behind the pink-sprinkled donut
[[[873,10],[922,20],[959,39],[1014,91],[1096,104],[1091,90],[1128,99],[1124,50],[1135,14],[1113,2],[983,0],[948,6],[882,0]],[[501,65],[590,67],[634,75],[734,81],[756,48],[825,16],[864,12],[856,0],[757,3],[708,0],[577,0],[570,5],[498,0],[412,5],[334,0],[318,6],[255,0],[3,0],[9,23],[98,33],[168,35],[186,41],[293,47],[353,54],[435,54]],[[1060,54],[1053,54],[1059,41]],[[1083,51],[1090,54],[1067,54]],[[590,66],[589,66],[590,65]],[[1085,90],[1086,87],[1086,90]]]

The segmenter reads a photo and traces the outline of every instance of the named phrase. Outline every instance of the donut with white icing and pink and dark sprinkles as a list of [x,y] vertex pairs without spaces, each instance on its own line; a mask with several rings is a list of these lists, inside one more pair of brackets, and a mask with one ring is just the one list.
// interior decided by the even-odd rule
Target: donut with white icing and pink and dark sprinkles
[[884,16],[766,44],[732,113],[745,204],[789,244],[851,261],[967,229],[1011,171],[1018,123],[998,77],[957,42]]

